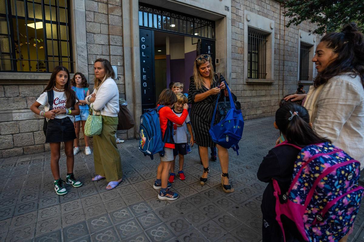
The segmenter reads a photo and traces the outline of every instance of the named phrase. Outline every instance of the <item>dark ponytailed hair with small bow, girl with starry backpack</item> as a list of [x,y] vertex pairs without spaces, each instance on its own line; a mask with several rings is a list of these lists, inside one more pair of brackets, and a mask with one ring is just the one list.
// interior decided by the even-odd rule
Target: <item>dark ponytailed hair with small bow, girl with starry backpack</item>
[[[297,115],[292,116],[294,112]],[[290,117],[292,116],[292,119]],[[303,106],[296,103],[286,103],[278,108],[276,112],[276,124],[278,129],[284,134],[288,143],[301,147],[310,144],[331,142],[322,138],[313,131],[310,126],[310,116]]]

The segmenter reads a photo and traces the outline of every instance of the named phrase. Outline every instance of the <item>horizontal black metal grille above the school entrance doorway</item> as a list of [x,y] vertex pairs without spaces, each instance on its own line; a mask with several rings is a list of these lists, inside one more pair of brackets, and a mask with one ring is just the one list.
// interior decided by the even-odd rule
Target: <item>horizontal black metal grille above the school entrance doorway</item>
[[144,3],[139,5],[139,26],[197,38],[215,39],[214,21]]

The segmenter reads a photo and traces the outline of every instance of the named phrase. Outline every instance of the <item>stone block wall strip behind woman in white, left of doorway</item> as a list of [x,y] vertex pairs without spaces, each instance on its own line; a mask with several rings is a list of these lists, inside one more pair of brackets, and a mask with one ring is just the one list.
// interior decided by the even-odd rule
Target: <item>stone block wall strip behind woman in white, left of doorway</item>
[[[125,98],[121,0],[86,0],[85,7],[90,90],[94,89],[94,62],[104,58],[116,66],[118,77],[115,82],[120,98]],[[118,131],[117,134],[121,139],[134,138],[128,137],[126,130]]]

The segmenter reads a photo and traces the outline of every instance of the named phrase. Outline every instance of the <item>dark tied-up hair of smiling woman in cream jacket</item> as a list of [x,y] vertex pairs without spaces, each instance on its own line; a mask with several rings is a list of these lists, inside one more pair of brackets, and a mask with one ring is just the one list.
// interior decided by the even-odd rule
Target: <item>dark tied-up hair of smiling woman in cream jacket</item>
[[344,25],[340,33],[328,33],[320,42],[325,42],[338,56],[322,72],[318,73],[314,86],[318,87],[328,82],[336,75],[353,72],[359,75],[364,87],[364,36],[356,23]]

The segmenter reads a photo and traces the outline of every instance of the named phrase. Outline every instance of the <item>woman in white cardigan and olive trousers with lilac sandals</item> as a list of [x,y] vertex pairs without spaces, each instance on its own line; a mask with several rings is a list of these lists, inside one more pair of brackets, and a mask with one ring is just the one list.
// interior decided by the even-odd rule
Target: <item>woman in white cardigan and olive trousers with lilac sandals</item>
[[94,135],[94,163],[96,176],[92,181],[106,178],[107,190],[120,184],[123,177],[120,153],[115,134],[118,126],[119,91],[114,81],[115,73],[108,60],[97,59],[94,65],[95,90],[85,98],[94,111],[102,115],[102,131]]

